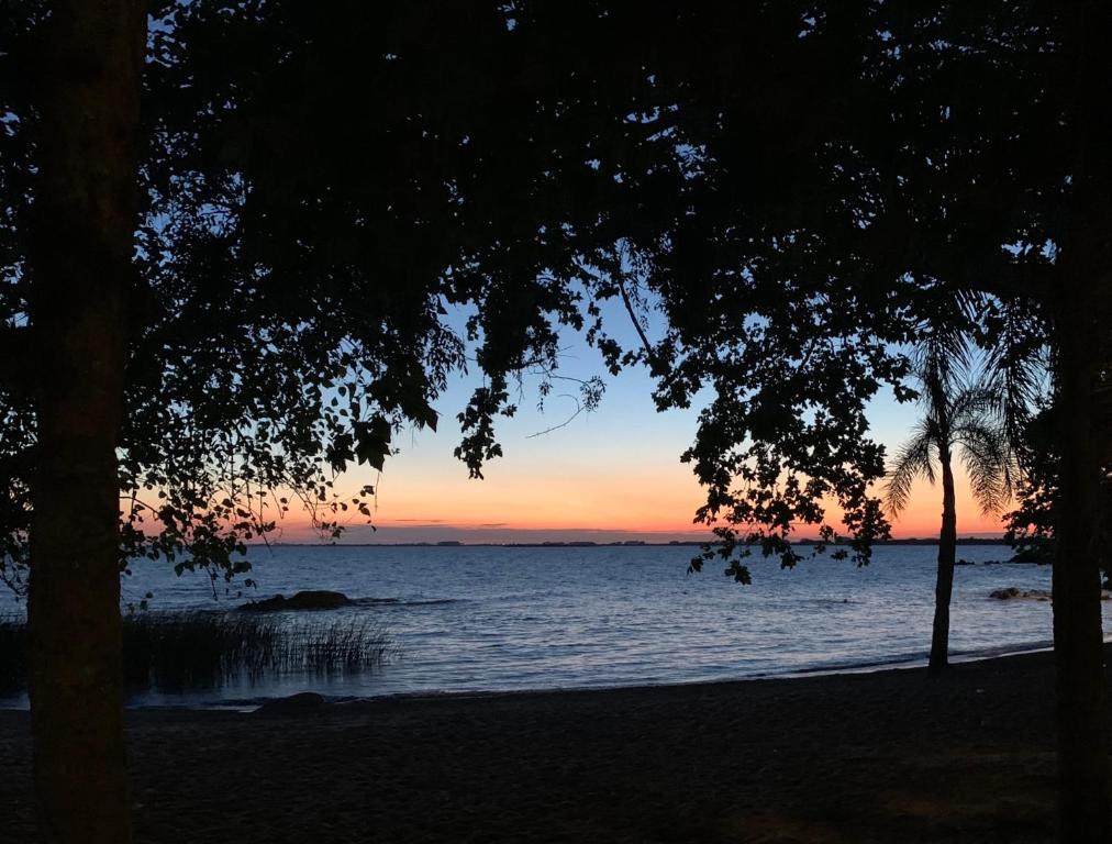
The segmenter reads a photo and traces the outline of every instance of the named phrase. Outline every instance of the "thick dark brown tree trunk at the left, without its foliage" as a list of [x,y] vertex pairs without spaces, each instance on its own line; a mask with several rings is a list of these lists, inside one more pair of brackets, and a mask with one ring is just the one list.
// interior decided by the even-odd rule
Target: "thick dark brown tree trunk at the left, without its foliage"
[[116,438],[136,214],[138,0],[63,0],[44,24],[30,251],[37,344],[31,724],[40,840],[130,838]]

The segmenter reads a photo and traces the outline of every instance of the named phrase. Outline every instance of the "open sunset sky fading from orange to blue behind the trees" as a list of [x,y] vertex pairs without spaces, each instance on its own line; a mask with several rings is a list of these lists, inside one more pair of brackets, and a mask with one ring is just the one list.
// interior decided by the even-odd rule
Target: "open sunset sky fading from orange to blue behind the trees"
[[[498,427],[504,457],[484,467],[481,480],[468,478],[466,466],[453,455],[460,439],[456,414],[478,379],[469,375],[454,380],[436,403],[440,413],[436,433],[403,431],[395,437],[399,453],[387,459],[381,474],[364,466],[337,481],[340,490],[354,493],[364,484],[377,489],[375,530],[353,519],[342,542],[707,538],[707,528],[693,524],[703,491],[691,466],[679,461],[695,436],[697,407],[657,413],[652,380],[644,371],[609,376],[598,354],[575,335],[567,337],[560,371],[580,378],[602,376],[606,393],[598,409],[570,418],[576,401],[558,395],[557,385],[542,413],[536,407],[539,378],[527,378],[517,415],[500,420]],[[567,393],[575,393],[574,385]],[[906,438],[917,413],[914,404],[898,405],[890,395],[871,404],[874,436],[890,454]],[[955,468],[959,536],[999,536],[1003,530],[999,517],[980,514],[964,471]],[[920,481],[911,505],[893,524],[893,536],[937,536],[941,510],[941,489]],[[813,535],[802,532],[800,537]],[[290,514],[280,523],[277,539],[315,537],[302,515]]]

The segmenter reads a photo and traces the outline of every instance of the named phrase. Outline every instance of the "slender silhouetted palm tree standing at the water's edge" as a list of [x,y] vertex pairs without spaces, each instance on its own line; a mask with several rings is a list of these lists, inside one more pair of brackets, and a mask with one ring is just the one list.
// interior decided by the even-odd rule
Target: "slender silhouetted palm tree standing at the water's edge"
[[925,477],[933,485],[942,477],[931,671],[945,668],[950,651],[950,598],[957,546],[955,455],[965,465],[973,496],[983,513],[1000,512],[1011,497],[1013,470],[1002,410],[1006,398],[983,381],[970,384],[970,357],[964,339],[952,336],[933,336],[919,347],[914,371],[924,414],[911,439],[896,453],[885,489],[888,513],[896,517],[906,508],[916,478]]

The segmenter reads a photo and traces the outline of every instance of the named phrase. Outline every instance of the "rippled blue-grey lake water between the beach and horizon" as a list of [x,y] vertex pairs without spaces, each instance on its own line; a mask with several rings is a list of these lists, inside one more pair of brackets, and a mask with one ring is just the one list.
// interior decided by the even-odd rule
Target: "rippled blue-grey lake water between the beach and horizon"
[[[687,575],[694,552],[252,548],[258,589],[237,595],[220,585],[216,598],[203,574],[179,578],[165,563],[140,560],[123,580],[123,602],[152,592],[155,610],[231,608],[299,589],[397,598],[311,614],[314,620],[367,614],[389,632],[396,655],[381,669],[355,676],[295,675],[183,695],[152,692],[131,703],[232,704],[307,689],[377,696],[689,683],[925,658],[932,546],[877,548],[865,568],[820,557],[785,572],[754,558],[752,586],[734,584],[715,566]],[[1049,589],[1049,567],[984,565],[1007,559],[1006,546],[960,546],[959,556],[977,565],[956,569],[952,653],[1050,644],[1049,603],[989,597],[1006,586]]]

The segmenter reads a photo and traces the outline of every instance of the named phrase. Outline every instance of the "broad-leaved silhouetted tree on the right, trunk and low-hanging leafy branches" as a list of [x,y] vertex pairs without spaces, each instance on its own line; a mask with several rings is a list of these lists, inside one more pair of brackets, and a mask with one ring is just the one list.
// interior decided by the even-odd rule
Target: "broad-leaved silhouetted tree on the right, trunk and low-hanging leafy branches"
[[832,536],[824,499],[843,498],[864,559],[883,520],[863,400],[884,383],[906,397],[893,345],[916,325],[972,329],[953,307],[970,294],[1029,308],[1062,407],[1060,837],[1108,841],[1096,560],[1112,427],[1112,173],[1099,152],[1112,140],[1110,12],[1021,0],[747,11],[695,7],[672,33],[676,56],[698,46],[687,67],[659,64],[686,82],[675,132],[705,178],[675,228],[639,244],[671,326],[644,354],[658,400],[713,395],[687,456],[707,487],[701,517],[722,518],[727,574],[744,580],[734,552],[756,544],[792,565],[792,525]]

